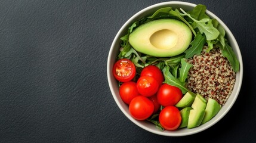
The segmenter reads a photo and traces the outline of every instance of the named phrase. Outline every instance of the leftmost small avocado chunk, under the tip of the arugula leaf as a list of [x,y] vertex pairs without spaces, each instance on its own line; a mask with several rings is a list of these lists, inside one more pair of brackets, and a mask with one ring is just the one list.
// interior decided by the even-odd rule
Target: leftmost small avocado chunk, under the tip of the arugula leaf
[[188,91],[183,98],[175,105],[178,108],[189,107],[193,104],[196,95],[193,92]]

